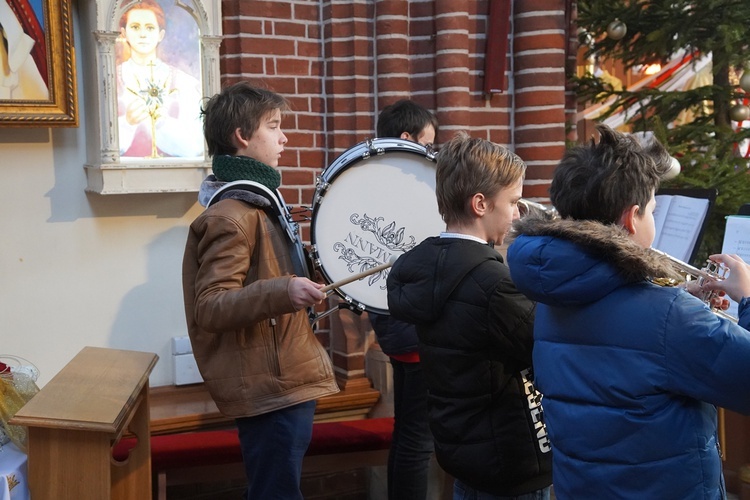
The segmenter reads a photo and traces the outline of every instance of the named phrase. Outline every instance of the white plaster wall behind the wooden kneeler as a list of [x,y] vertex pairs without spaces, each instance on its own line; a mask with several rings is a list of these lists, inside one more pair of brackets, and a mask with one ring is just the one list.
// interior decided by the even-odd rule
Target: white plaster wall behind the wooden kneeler
[[[151,385],[173,383],[186,335],[181,261],[196,193],[86,193],[78,12],[78,128],[0,128],[0,355],[46,384],[84,346],[154,352]],[[90,89],[88,89],[90,91]]]

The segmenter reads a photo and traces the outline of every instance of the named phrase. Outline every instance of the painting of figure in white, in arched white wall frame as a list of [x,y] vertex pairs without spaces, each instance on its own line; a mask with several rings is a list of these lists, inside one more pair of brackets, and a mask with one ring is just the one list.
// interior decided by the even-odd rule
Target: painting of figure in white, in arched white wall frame
[[87,190],[197,191],[210,171],[200,110],[219,91],[220,1],[98,0],[83,19],[96,90]]

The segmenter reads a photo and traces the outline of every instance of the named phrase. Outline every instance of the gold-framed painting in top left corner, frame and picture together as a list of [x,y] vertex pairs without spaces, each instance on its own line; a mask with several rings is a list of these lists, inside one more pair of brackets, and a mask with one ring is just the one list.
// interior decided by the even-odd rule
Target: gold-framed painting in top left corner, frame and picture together
[[70,0],[0,0],[0,126],[77,127]]

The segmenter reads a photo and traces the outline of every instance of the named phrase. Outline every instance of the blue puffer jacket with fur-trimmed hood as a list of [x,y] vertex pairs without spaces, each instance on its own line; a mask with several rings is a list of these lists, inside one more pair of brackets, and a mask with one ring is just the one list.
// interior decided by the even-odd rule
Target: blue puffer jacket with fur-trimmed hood
[[716,407],[750,413],[748,300],[741,327],[654,284],[669,260],[615,226],[528,219],[516,231],[508,265],[538,302],[557,498],[723,498]]

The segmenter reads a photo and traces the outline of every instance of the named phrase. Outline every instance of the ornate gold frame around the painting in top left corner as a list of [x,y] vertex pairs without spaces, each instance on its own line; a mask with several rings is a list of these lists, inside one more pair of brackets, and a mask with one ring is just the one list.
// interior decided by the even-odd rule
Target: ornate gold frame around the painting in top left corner
[[[0,12],[16,13],[23,16],[25,9],[22,2],[0,0]],[[13,4],[13,5],[12,5]],[[75,71],[75,49],[73,47],[73,21],[70,0],[43,0],[43,44],[46,46],[45,61],[37,62],[37,75],[41,75],[47,87],[48,98],[0,97],[0,126],[9,127],[77,127],[78,126],[78,91]],[[28,12],[25,12],[28,15]],[[33,14],[32,14],[33,15]],[[19,26],[22,21],[19,19]],[[16,27],[16,33],[19,28]],[[27,32],[24,29],[24,32]],[[28,33],[27,33],[28,35]],[[33,33],[32,33],[33,35]],[[22,35],[25,36],[25,35]],[[29,36],[25,38],[30,39]],[[38,54],[37,54],[38,55]],[[2,56],[7,56],[6,53]],[[31,56],[29,56],[31,57]],[[7,60],[5,57],[4,60]]]

